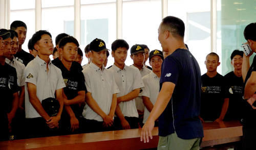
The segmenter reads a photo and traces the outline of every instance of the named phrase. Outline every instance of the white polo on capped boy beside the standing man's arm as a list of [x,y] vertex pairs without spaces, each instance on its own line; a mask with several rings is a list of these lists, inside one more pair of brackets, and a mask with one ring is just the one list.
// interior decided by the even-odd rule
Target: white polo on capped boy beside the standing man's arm
[[[147,74],[146,76],[144,76],[142,80],[145,87],[142,89],[141,95],[150,98],[150,102],[153,105],[155,105],[157,101],[157,96],[159,94],[159,89],[160,89],[160,85],[159,85],[160,78],[158,78],[157,75],[153,71],[151,71],[150,74]],[[145,107],[143,123],[146,122],[148,116],[150,116],[150,112]]]

